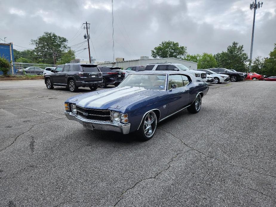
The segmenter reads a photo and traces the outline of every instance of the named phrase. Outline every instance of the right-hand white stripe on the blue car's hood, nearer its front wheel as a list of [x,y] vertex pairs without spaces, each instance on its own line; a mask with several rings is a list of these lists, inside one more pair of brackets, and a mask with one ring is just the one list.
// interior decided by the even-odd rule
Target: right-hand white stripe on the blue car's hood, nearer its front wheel
[[104,104],[106,104],[110,101],[114,101],[117,98],[122,98],[124,96],[132,95],[134,93],[141,92],[141,91],[144,91],[144,90],[146,90],[146,89],[140,88],[140,87],[132,87],[132,88],[129,88],[127,90],[116,91],[116,92],[113,92],[109,96],[91,101],[90,104],[88,104],[87,106],[101,107],[102,105],[104,105]]

